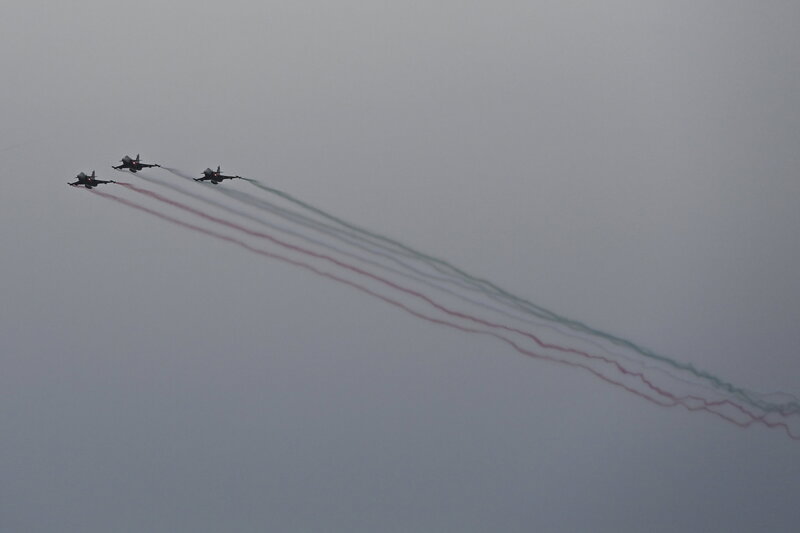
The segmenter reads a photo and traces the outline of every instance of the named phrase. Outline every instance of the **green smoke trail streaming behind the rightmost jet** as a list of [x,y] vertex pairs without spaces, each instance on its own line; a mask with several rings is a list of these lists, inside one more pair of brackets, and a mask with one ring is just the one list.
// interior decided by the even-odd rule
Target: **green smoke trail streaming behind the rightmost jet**
[[678,360],[666,357],[664,355],[660,355],[658,353],[653,352],[652,350],[649,350],[649,349],[647,349],[647,348],[645,348],[643,346],[640,346],[640,345],[636,344],[635,342],[633,342],[631,340],[619,337],[619,336],[614,335],[612,333],[607,333],[607,332],[592,328],[592,327],[590,327],[590,326],[588,326],[588,325],[586,325],[583,322],[580,322],[578,320],[574,320],[574,319],[567,318],[565,316],[559,315],[559,314],[557,314],[557,313],[555,313],[553,311],[550,311],[549,309],[545,309],[545,308],[543,308],[541,306],[538,306],[538,305],[534,304],[533,302],[530,302],[530,301],[528,301],[528,300],[526,300],[524,298],[516,296],[516,295],[514,295],[514,294],[512,294],[512,293],[510,293],[510,292],[508,292],[508,291],[506,291],[504,289],[502,289],[501,287],[498,287],[497,285],[495,285],[494,283],[492,283],[489,280],[475,277],[475,276],[469,274],[468,272],[465,272],[464,270],[461,270],[460,268],[448,263],[447,261],[445,261],[443,259],[439,259],[437,257],[425,254],[423,252],[419,252],[419,251],[414,250],[413,248],[411,248],[411,247],[409,247],[409,246],[407,246],[407,245],[405,245],[405,244],[403,244],[401,242],[398,242],[398,241],[396,241],[394,239],[391,239],[391,238],[386,237],[384,235],[380,235],[380,234],[374,233],[374,232],[369,231],[369,230],[367,230],[365,228],[362,228],[360,226],[357,226],[355,224],[347,222],[346,220],[343,220],[343,219],[341,219],[339,217],[336,217],[336,216],[334,216],[334,215],[332,215],[332,214],[330,214],[330,213],[328,213],[326,211],[323,211],[322,209],[319,209],[318,207],[315,207],[315,206],[312,206],[310,204],[307,204],[306,202],[303,202],[302,200],[300,200],[298,198],[295,198],[294,196],[290,195],[289,193],[286,193],[286,192],[280,191],[278,189],[275,189],[273,187],[269,187],[267,185],[264,185],[264,184],[262,184],[261,182],[259,182],[257,180],[249,179],[249,178],[242,178],[242,179],[244,179],[245,181],[251,183],[255,187],[258,187],[259,189],[262,189],[262,190],[264,190],[266,192],[269,192],[269,193],[274,194],[274,195],[276,195],[276,196],[278,196],[280,198],[283,198],[284,200],[287,200],[287,201],[289,201],[289,202],[291,202],[291,203],[293,203],[295,205],[298,205],[298,206],[300,206],[300,207],[302,207],[302,208],[304,208],[304,209],[306,209],[308,211],[311,211],[311,212],[313,212],[313,213],[315,213],[315,214],[317,214],[319,216],[322,216],[322,217],[324,217],[324,218],[326,218],[328,220],[331,220],[331,221],[333,221],[333,222],[335,222],[335,223],[337,223],[337,224],[339,224],[339,225],[341,225],[343,227],[346,227],[348,229],[356,231],[356,232],[358,232],[358,233],[360,233],[362,235],[367,235],[367,236],[369,236],[369,237],[371,237],[373,239],[378,239],[378,240],[383,241],[383,242],[385,242],[387,244],[390,244],[390,245],[392,245],[392,246],[394,246],[394,247],[396,247],[396,248],[398,248],[400,250],[403,250],[404,252],[407,252],[408,254],[410,254],[412,257],[415,257],[418,260],[427,263],[428,265],[430,265],[431,267],[435,268],[436,270],[438,270],[440,272],[450,272],[452,274],[455,274],[458,277],[460,277],[461,279],[463,279],[464,281],[466,281],[469,284],[471,284],[472,286],[476,287],[477,289],[482,290],[482,291],[487,291],[488,290],[489,292],[491,292],[493,294],[501,296],[501,297],[503,297],[503,298],[515,303],[516,305],[521,306],[526,311],[528,311],[528,312],[530,312],[530,313],[532,313],[532,314],[534,314],[534,315],[536,315],[536,316],[538,316],[540,318],[544,318],[546,320],[552,320],[552,321],[561,323],[561,324],[563,324],[563,325],[565,325],[565,326],[567,326],[567,327],[569,327],[569,328],[571,328],[571,329],[573,329],[575,331],[579,331],[579,332],[582,332],[582,333],[587,333],[587,334],[593,335],[595,337],[600,337],[600,338],[606,339],[607,341],[609,341],[609,342],[611,342],[611,343],[613,343],[613,344],[615,344],[617,346],[622,346],[624,348],[628,348],[628,349],[633,350],[633,351],[635,351],[635,352],[637,352],[637,353],[639,353],[639,354],[641,354],[641,355],[643,355],[643,356],[645,356],[647,358],[650,358],[650,359],[659,361],[661,363],[667,364],[667,365],[669,365],[669,366],[671,366],[671,367],[673,367],[675,369],[678,369],[678,370],[683,370],[683,371],[686,371],[686,372],[690,372],[694,376],[696,376],[696,377],[698,377],[700,379],[704,379],[704,380],[708,381],[715,388],[717,388],[719,390],[723,390],[723,391],[725,391],[725,392],[727,392],[729,394],[732,394],[732,395],[736,396],[737,398],[739,398],[740,400],[742,400],[742,401],[744,401],[744,402],[746,402],[746,403],[748,403],[748,404],[750,404],[752,406],[758,407],[759,409],[762,409],[764,411],[778,412],[778,413],[784,414],[784,415],[794,414],[794,413],[800,412],[800,403],[798,403],[797,401],[787,402],[787,403],[784,403],[784,404],[774,404],[774,403],[766,402],[763,399],[758,398],[758,394],[757,393],[754,393],[754,392],[748,391],[748,390],[746,390],[746,389],[744,389],[742,387],[738,387],[736,385],[733,385],[732,383],[730,383],[728,381],[725,381],[725,380],[723,380],[723,379],[721,379],[721,378],[719,378],[717,376],[714,376],[713,374],[711,374],[709,372],[706,372],[704,370],[700,370],[700,369],[696,368],[691,363],[683,363],[683,362],[680,362]]

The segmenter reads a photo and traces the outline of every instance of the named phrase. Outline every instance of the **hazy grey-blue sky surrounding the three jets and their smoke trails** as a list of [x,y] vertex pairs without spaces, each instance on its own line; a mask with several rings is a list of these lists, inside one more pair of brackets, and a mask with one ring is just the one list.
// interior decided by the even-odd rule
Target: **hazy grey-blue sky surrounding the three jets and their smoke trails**
[[6,0],[0,530],[797,531],[780,431],[65,183],[221,164],[800,393],[798,30],[790,1]]

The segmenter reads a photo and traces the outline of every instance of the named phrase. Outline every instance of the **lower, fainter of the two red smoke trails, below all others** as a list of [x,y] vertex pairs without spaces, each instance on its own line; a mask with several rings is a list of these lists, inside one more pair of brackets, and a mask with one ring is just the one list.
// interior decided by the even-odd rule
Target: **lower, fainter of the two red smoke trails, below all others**
[[[136,187],[134,187],[132,185],[128,185],[128,186],[130,188],[136,188]],[[624,383],[620,383],[618,381],[615,381],[615,380],[613,380],[613,379],[601,374],[599,371],[597,371],[597,370],[595,370],[595,369],[593,369],[591,367],[588,367],[588,366],[585,366],[585,365],[582,365],[582,364],[579,364],[579,363],[574,363],[574,362],[571,362],[571,361],[564,361],[564,360],[560,360],[560,359],[555,359],[555,358],[547,356],[547,355],[538,354],[536,352],[527,350],[527,349],[521,347],[519,344],[517,344],[513,340],[511,340],[511,339],[509,339],[507,337],[504,337],[504,336],[502,336],[502,335],[500,335],[498,333],[492,332],[492,331],[484,331],[484,330],[468,328],[468,327],[461,326],[459,324],[448,322],[446,320],[441,320],[441,319],[438,319],[438,318],[430,317],[428,315],[425,315],[423,313],[420,313],[418,311],[415,311],[415,310],[411,309],[410,307],[406,306],[405,304],[403,304],[401,302],[398,302],[398,301],[393,300],[393,299],[391,299],[391,298],[389,298],[387,296],[383,296],[383,295],[381,295],[381,294],[379,294],[377,292],[374,292],[371,289],[368,289],[367,287],[364,287],[362,285],[359,285],[359,284],[357,284],[355,282],[352,282],[352,281],[349,281],[347,279],[340,278],[340,277],[338,277],[338,276],[336,276],[334,274],[331,274],[331,273],[328,273],[328,272],[324,272],[324,271],[319,270],[316,267],[314,267],[312,265],[309,265],[307,263],[303,263],[301,261],[290,259],[288,257],[284,257],[284,256],[281,256],[281,255],[272,253],[272,252],[268,252],[266,250],[261,250],[261,249],[255,248],[255,247],[250,246],[249,244],[247,244],[247,243],[245,243],[243,241],[240,241],[240,240],[238,240],[236,238],[228,237],[227,235],[222,235],[222,234],[216,233],[214,231],[202,228],[200,226],[196,226],[194,224],[178,220],[176,218],[170,217],[169,215],[165,215],[163,213],[159,213],[159,212],[157,212],[157,211],[155,211],[153,209],[149,209],[147,207],[139,205],[139,204],[137,204],[135,202],[131,202],[130,200],[126,200],[124,198],[120,198],[120,197],[118,197],[116,195],[113,195],[113,194],[104,193],[104,192],[100,192],[100,191],[94,191],[94,190],[90,190],[90,192],[93,193],[93,194],[96,194],[98,196],[101,196],[103,198],[107,198],[109,200],[113,200],[113,201],[119,202],[121,204],[127,205],[128,207],[132,207],[132,208],[137,209],[139,211],[151,214],[151,215],[153,215],[153,216],[155,216],[157,218],[160,218],[160,219],[165,220],[167,222],[170,222],[172,224],[181,226],[183,228],[195,231],[197,233],[201,233],[201,234],[207,235],[209,237],[214,237],[214,238],[219,239],[219,240],[223,240],[223,241],[226,241],[226,242],[230,242],[230,243],[236,244],[236,245],[241,246],[242,248],[244,248],[244,249],[246,249],[246,250],[248,250],[250,252],[253,252],[255,254],[259,254],[259,255],[262,255],[264,257],[269,257],[269,258],[272,258],[272,259],[277,259],[278,261],[282,261],[284,263],[288,263],[288,264],[291,264],[293,266],[297,266],[297,267],[303,268],[305,270],[311,271],[314,274],[317,274],[318,276],[322,276],[322,277],[331,279],[333,281],[337,281],[339,283],[343,283],[343,284],[348,285],[348,286],[350,286],[350,287],[352,287],[352,288],[354,288],[354,289],[356,289],[358,291],[361,291],[363,293],[369,294],[370,296],[378,298],[378,299],[380,299],[380,300],[382,300],[382,301],[384,301],[384,302],[386,302],[386,303],[388,303],[388,304],[390,304],[390,305],[392,305],[394,307],[400,308],[400,309],[406,311],[407,313],[409,313],[409,314],[411,314],[413,316],[416,316],[417,318],[426,320],[426,321],[428,321],[430,323],[439,324],[439,325],[442,325],[442,326],[447,326],[447,327],[450,327],[450,328],[453,328],[453,329],[456,329],[456,330],[459,330],[459,331],[462,331],[462,332],[465,332],[465,333],[476,333],[476,334],[482,334],[482,335],[489,335],[489,336],[492,336],[492,337],[494,337],[494,338],[496,338],[496,339],[508,344],[514,350],[519,352],[520,354],[527,355],[527,356],[532,357],[534,359],[542,359],[542,360],[546,360],[546,361],[552,361],[552,362],[555,362],[555,363],[560,363],[560,364],[563,364],[563,365],[566,365],[566,366],[569,366],[569,367],[573,367],[573,368],[581,368],[583,370],[586,370],[586,371],[592,373],[593,375],[595,375],[596,377],[598,377],[601,380],[605,381],[606,383],[609,383],[610,385],[614,385],[614,386],[620,387],[620,388],[622,388],[622,389],[624,389],[624,390],[626,390],[626,391],[628,391],[628,392],[630,392],[632,394],[635,394],[636,396],[639,396],[640,398],[643,398],[643,399],[645,399],[645,400],[647,400],[647,401],[649,401],[651,403],[654,403],[656,405],[659,405],[661,407],[673,407],[673,406],[676,406],[676,405],[681,405],[681,406],[683,406],[684,408],[686,408],[689,411],[698,411],[698,410],[707,411],[707,412],[709,412],[711,414],[714,414],[714,415],[722,418],[723,420],[726,420],[726,421],[728,421],[728,422],[730,422],[730,423],[732,423],[732,424],[734,424],[734,425],[736,425],[738,427],[741,427],[741,428],[747,428],[747,427],[751,426],[754,422],[760,422],[760,423],[762,423],[765,426],[770,427],[770,428],[777,428],[777,427],[783,428],[785,433],[790,438],[792,438],[794,440],[800,440],[800,436],[794,435],[791,432],[791,429],[789,428],[789,426],[787,424],[783,423],[783,422],[770,422],[768,420],[765,420],[763,417],[755,416],[752,413],[747,412],[746,410],[742,410],[742,411],[745,414],[748,414],[748,416],[750,416],[752,420],[747,421],[747,422],[740,422],[740,421],[738,421],[738,420],[736,420],[734,418],[731,418],[731,417],[729,417],[729,416],[727,416],[725,414],[722,414],[720,412],[717,412],[717,411],[714,411],[714,410],[711,409],[711,407],[714,407],[714,406],[719,406],[719,405],[722,405],[722,404],[725,404],[725,403],[730,403],[728,400],[717,401],[717,402],[708,402],[708,401],[706,401],[706,400],[704,400],[702,398],[698,398],[698,397],[694,397],[694,396],[678,398],[678,397],[674,396],[673,394],[671,394],[671,393],[669,393],[667,391],[661,391],[658,388],[656,388],[656,387],[651,385],[651,388],[653,388],[657,392],[663,394],[665,397],[667,397],[669,399],[669,402],[665,403],[665,402],[659,401],[659,400],[657,400],[655,398],[652,398],[652,397],[646,395],[645,393],[643,393],[641,391],[638,391],[638,390],[636,390],[636,389],[634,389],[632,387],[629,387],[629,386],[625,385]],[[142,189],[142,192],[149,193],[150,191],[145,191],[145,190]],[[152,193],[152,194],[156,195],[155,193]],[[156,195],[156,196],[158,196],[158,195]],[[171,203],[172,204],[173,202],[171,200],[167,200],[167,203]],[[177,205],[177,202],[174,202],[174,203]],[[191,208],[189,208],[189,209],[191,209]],[[192,210],[192,211],[194,211],[194,210]],[[208,217],[210,217],[210,215]],[[214,217],[210,217],[210,218],[214,218]],[[233,225],[233,226],[235,226],[235,225]],[[592,357],[592,356],[589,356],[588,354],[587,354],[587,356],[588,357]],[[595,357],[597,357],[597,356],[595,356]],[[636,374],[632,374],[630,372],[627,372],[627,373],[630,374],[630,375],[636,375]],[[645,381],[645,383],[648,383],[648,382]],[[701,402],[703,402],[704,405],[700,405],[700,406],[687,405],[685,403],[685,401],[684,401],[687,398],[696,399],[698,401],[701,401]]]

